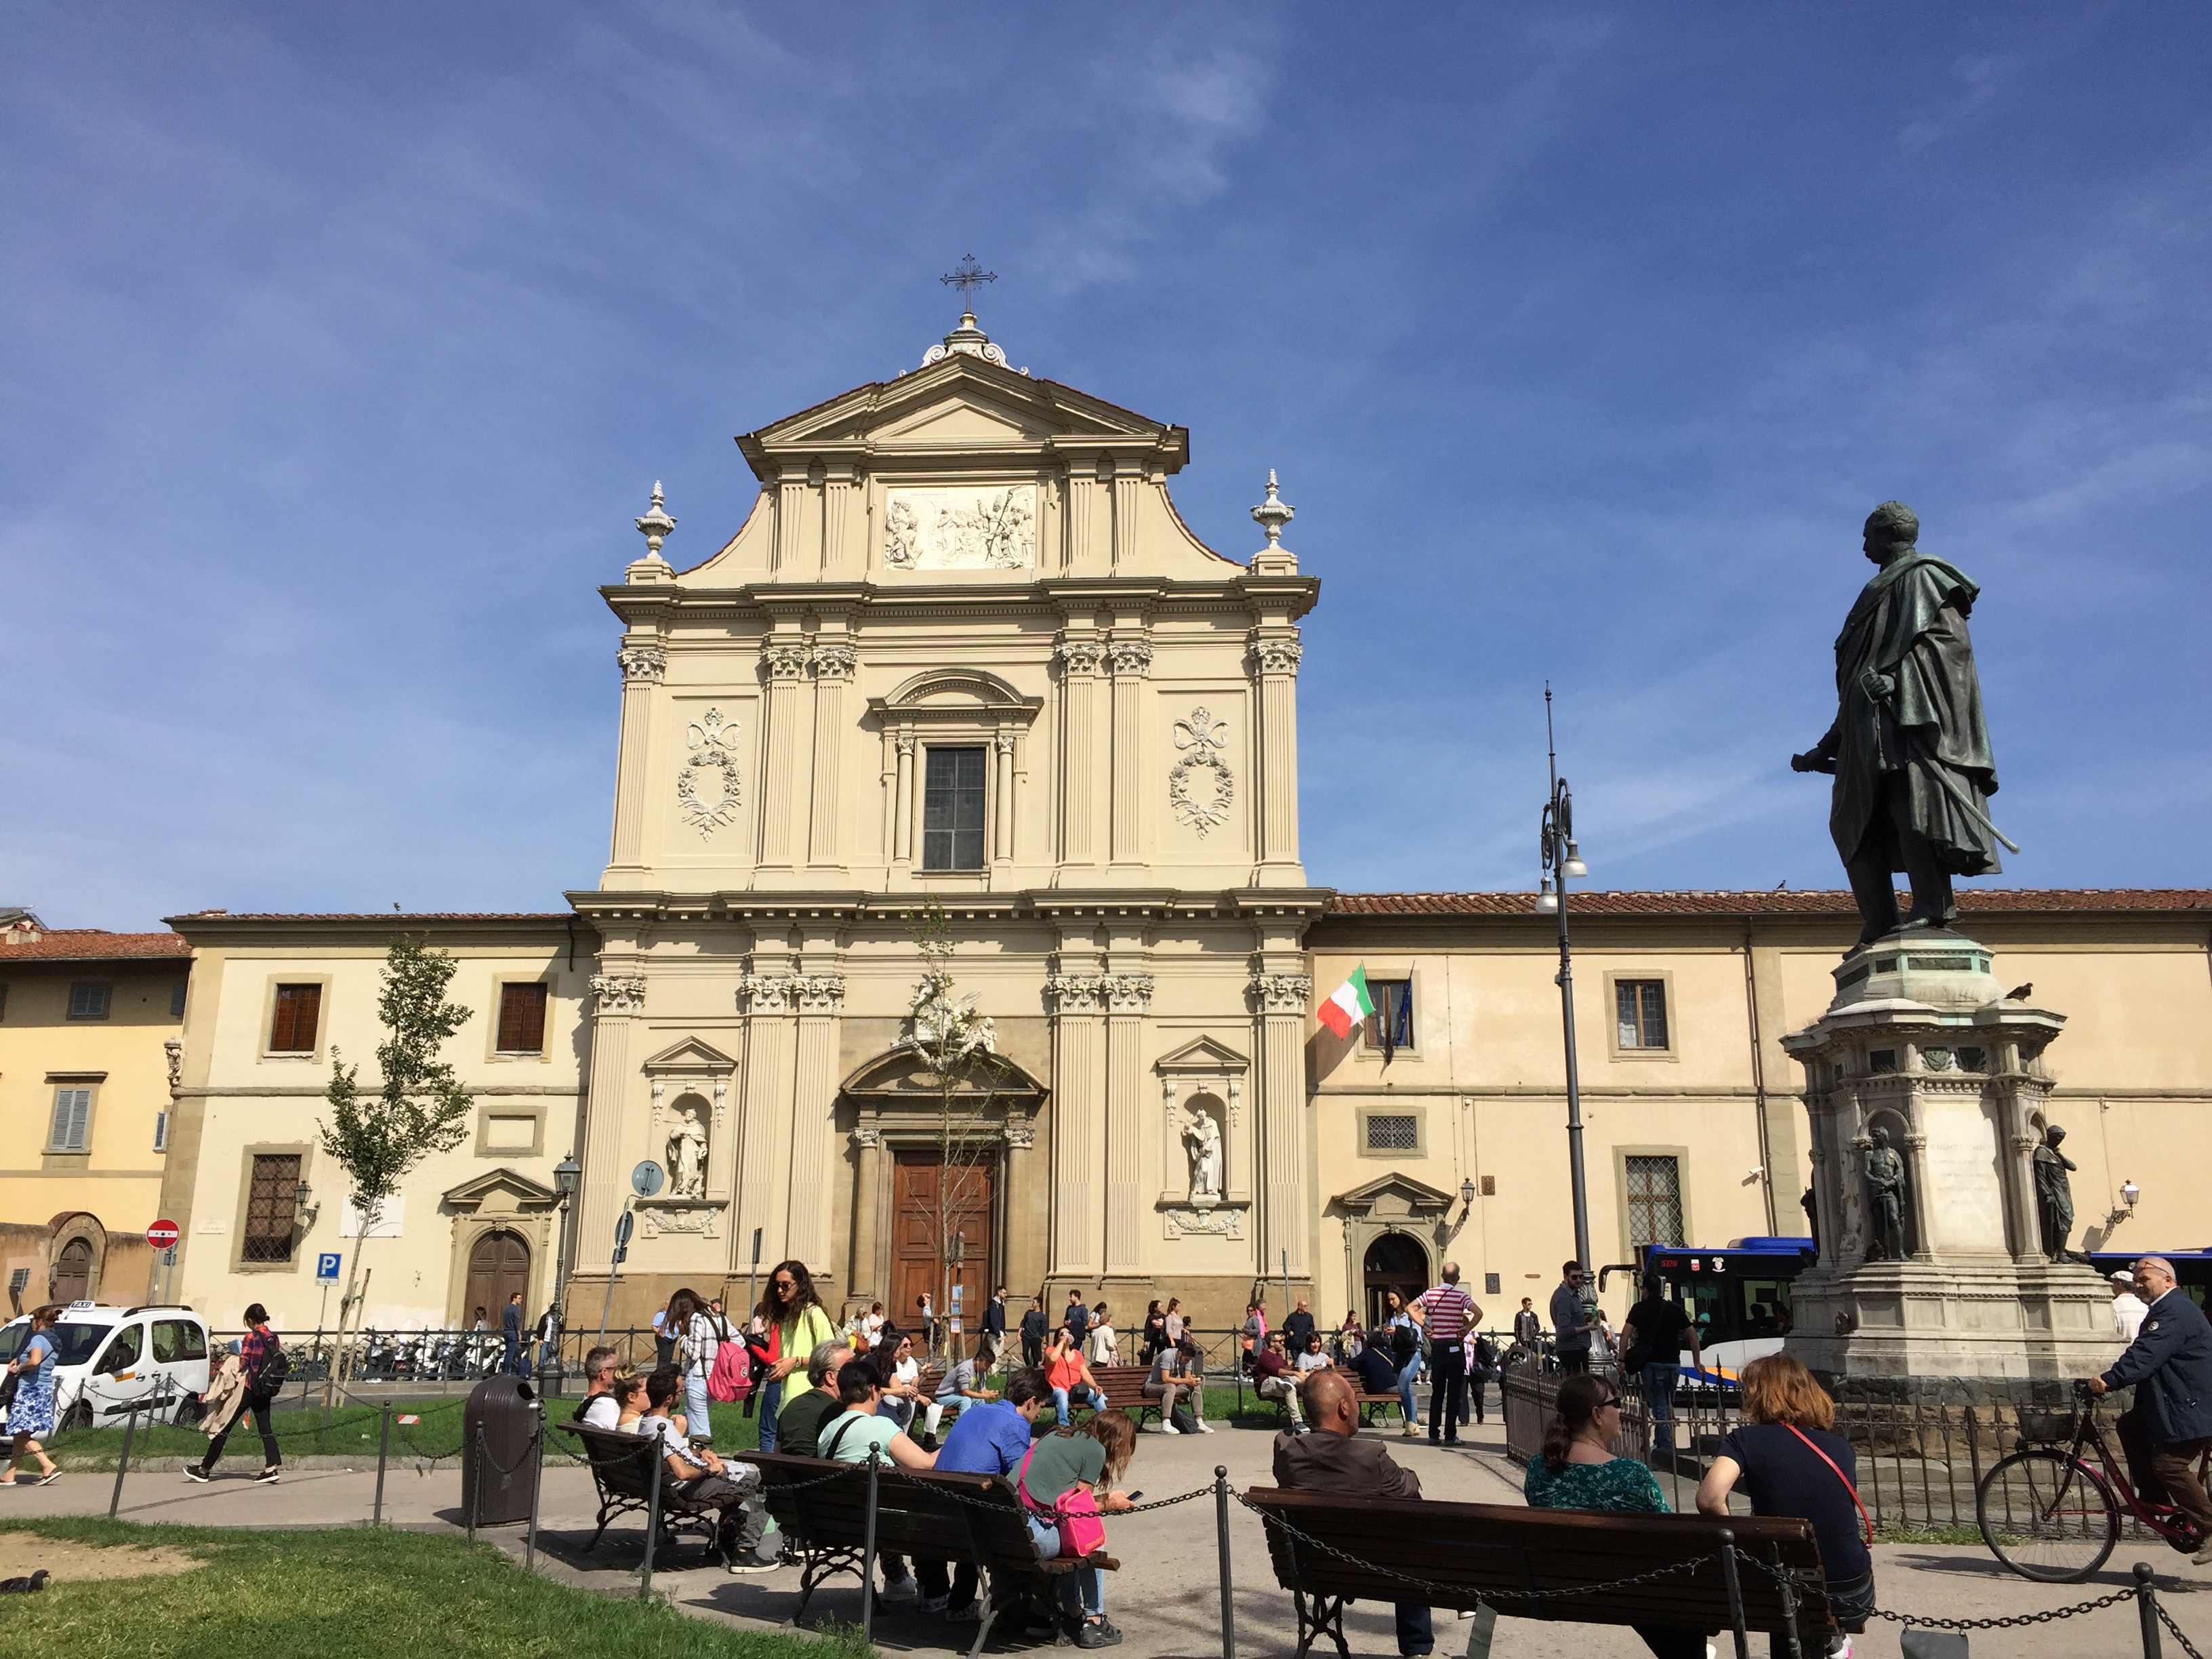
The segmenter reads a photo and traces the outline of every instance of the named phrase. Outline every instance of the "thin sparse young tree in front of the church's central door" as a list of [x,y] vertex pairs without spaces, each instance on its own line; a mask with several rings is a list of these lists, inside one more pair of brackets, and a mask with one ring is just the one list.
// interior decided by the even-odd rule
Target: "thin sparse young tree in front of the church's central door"
[[[1015,1068],[998,1053],[998,1033],[975,995],[953,991],[953,933],[945,905],[929,900],[911,920],[922,978],[914,987],[907,1046],[920,1055],[938,1091],[938,1188],[925,1206],[936,1237],[938,1318],[951,1316],[953,1237],[980,1203],[1000,1097]],[[989,1274],[989,1263],[982,1263]]]

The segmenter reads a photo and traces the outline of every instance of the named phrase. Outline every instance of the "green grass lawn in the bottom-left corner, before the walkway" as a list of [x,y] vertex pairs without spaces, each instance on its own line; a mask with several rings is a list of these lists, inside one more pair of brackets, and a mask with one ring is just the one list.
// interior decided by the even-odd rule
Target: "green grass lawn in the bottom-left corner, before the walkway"
[[858,1659],[830,1639],[723,1630],[635,1597],[529,1577],[491,1544],[392,1531],[252,1533],[102,1520],[0,1520],[84,1544],[166,1544],[208,1564],[139,1579],[55,1582],[9,1597],[13,1659]]

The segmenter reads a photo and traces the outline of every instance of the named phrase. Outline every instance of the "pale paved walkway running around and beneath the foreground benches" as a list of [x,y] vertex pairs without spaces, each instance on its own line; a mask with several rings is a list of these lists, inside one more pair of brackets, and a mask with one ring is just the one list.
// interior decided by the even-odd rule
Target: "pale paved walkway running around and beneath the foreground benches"
[[[1369,1431],[1374,1433],[1374,1431]],[[1429,1498],[1464,1502],[1520,1502],[1520,1471],[1504,1460],[1504,1431],[1493,1418],[1471,1431],[1464,1449],[1431,1447],[1387,1433],[1394,1455],[1420,1475]],[[1272,1433],[1223,1427],[1212,1436],[1152,1436],[1137,1442],[1128,1484],[1146,1500],[1208,1486],[1214,1464],[1225,1464],[1239,1486],[1272,1484]],[[252,1482],[257,1458],[239,1455],[212,1486],[188,1484],[181,1475],[133,1473],[124,1480],[122,1515],[142,1522],[195,1526],[345,1526],[365,1522],[374,1502],[376,1467],[312,1469],[288,1473],[276,1486]],[[0,1515],[104,1515],[113,1475],[69,1473],[53,1486],[0,1491]],[[604,1593],[635,1588],[639,1526],[619,1526],[595,1553],[591,1475],[573,1464],[546,1467],[540,1504],[540,1571],[549,1577]],[[445,1462],[429,1471],[394,1462],[385,1475],[385,1520],[396,1526],[451,1531],[460,1513],[460,1471]],[[1106,1606],[1126,1632],[1117,1650],[1128,1659],[1217,1659],[1221,1652],[1221,1593],[1214,1557],[1212,1495],[1179,1509],[1108,1522],[1121,1571],[1108,1577]],[[522,1557],[522,1528],[484,1528],[482,1537]],[[1259,1520],[1230,1506],[1230,1557],[1237,1586],[1237,1646],[1241,1655],[1287,1655],[1294,1646],[1290,1599],[1267,1568],[1267,1546]],[[1876,1584],[1882,1606],[1938,1617],[2022,1615],[2059,1608],[2126,1586],[2128,1566],[2148,1557],[2159,1568],[2159,1593],[2190,1639],[2212,1652],[2212,1573],[2192,1568],[2172,1551],[2157,1555],[2121,1546],[2095,1584],[2044,1586],[2013,1577],[1980,1546],[1882,1544],[1876,1548]],[[686,1548],[684,1559],[697,1559]],[[799,1601],[796,1573],[730,1577],[719,1566],[692,1566],[655,1575],[655,1588],[684,1613],[741,1628],[770,1628],[792,1615]],[[814,1619],[858,1619],[860,1593],[852,1579],[832,1582],[807,1608]],[[1438,1652],[1464,1646],[1464,1626],[1449,1613],[1438,1617]],[[1345,1619],[1354,1652],[1387,1659],[1391,1615],[1385,1606],[1356,1606]],[[947,1626],[942,1617],[911,1608],[878,1608],[876,1644],[889,1652],[964,1652],[973,1626]],[[2117,1606],[2086,1619],[2002,1630],[1973,1637],[1973,1652],[2011,1659],[2077,1659],[2079,1655],[2139,1652],[2135,1608]],[[2172,1652],[2172,1646],[2168,1644]],[[1500,1659],[1635,1659],[1641,1641],[1628,1630],[1582,1624],[1504,1619],[1498,1626]],[[1725,1657],[1728,1644],[1723,1639]],[[1763,1655],[1763,1639],[1754,1639]],[[1898,1626],[1876,1624],[1858,1639],[1856,1652],[1896,1659]],[[1334,1655],[1332,1655],[1334,1659]]]

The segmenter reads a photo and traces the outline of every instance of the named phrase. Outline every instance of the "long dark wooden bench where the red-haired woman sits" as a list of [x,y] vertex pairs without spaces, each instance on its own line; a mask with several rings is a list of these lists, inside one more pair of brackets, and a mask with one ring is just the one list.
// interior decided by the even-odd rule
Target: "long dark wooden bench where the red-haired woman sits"
[[[1608,1515],[1345,1498],[1281,1486],[1259,1486],[1245,1498],[1265,1520],[1276,1584],[1290,1590],[1298,1610],[1296,1659],[1305,1659],[1323,1635],[1349,1659],[1345,1601],[1422,1601],[1438,1608],[1489,1601],[1500,1615],[1517,1619],[1730,1630],[1728,1575],[1719,1559],[1723,1531],[1734,1533],[1739,1557],[1752,1557],[1736,1562],[1745,1630],[1778,1632],[1796,1624],[1805,1655],[1827,1652],[1836,1630],[1820,1551],[1805,1520]],[[1356,1559],[1329,1555],[1316,1544]],[[1520,1599],[1531,1590],[1613,1584],[1681,1562],[1697,1566],[1597,1595]],[[1767,1568],[1785,1568],[1798,1588],[1785,1593]],[[1425,1584],[1402,1584],[1391,1573]]]

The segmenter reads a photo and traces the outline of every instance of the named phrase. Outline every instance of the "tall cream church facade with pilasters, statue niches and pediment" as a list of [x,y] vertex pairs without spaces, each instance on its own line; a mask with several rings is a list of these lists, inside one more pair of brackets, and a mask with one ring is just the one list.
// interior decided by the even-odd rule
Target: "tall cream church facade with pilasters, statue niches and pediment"
[[[799,1259],[911,1307],[936,1093],[902,1051],[938,900],[1020,1068],[971,1279],[1241,1307],[1312,1274],[1298,619],[1281,546],[1203,546],[1188,434],[1004,365],[971,319],[922,367],[739,440],[743,529],[624,624],[613,858],[571,894],[595,978],[577,1287],[619,1305]],[[1283,513],[1287,515],[1287,513]],[[1194,1146],[1219,1144],[1219,1179]],[[703,1141],[703,1146],[701,1146]]]

